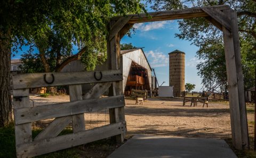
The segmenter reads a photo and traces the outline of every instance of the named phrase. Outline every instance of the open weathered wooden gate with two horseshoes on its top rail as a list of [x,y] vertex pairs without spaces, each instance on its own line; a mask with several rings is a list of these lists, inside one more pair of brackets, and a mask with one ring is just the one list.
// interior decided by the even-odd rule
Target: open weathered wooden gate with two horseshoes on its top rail
[[[122,80],[120,70],[14,75],[13,103],[17,157],[50,153],[111,136],[122,137],[120,135],[126,132],[126,123],[118,119],[118,116],[116,119],[111,119],[110,116],[110,125],[90,130],[85,130],[84,124],[86,112],[104,109],[115,112],[115,109],[125,106],[123,95],[99,98],[113,83]],[[82,84],[86,83],[94,83],[94,86],[82,96]],[[70,102],[30,106],[29,88],[58,85],[69,85]],[[55,119],[32,139],[31,122],[50,118]],[[58,136],[71,121],[73,133]]]

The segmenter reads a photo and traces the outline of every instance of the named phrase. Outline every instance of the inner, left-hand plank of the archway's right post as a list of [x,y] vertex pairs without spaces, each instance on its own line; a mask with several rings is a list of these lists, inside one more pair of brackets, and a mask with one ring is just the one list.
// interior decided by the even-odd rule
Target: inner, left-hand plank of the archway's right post
[[[225,14],[230,14],[230,11],[225,11]],[[233,138],[233,145],[238,150],[242,150],[242,133],[241,133],[241,118],[239,110],[239,96],[237,87],[237,76],[236,76],[236,61],[234,53],[233,38],[226,29],[222,27],[223,40],[225,47],[225,59],[227,68],[227,79],[228,79],[228,95],[229,95],[229,107],[230,107],[230,120],[231,120],[231,133]]]

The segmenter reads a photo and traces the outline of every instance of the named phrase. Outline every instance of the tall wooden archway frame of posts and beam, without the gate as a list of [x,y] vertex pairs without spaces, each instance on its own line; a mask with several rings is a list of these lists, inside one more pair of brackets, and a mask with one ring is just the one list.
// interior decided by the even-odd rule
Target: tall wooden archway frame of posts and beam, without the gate
[[[223,32],[227,79],[229,90],[229,106],[233,145],[238,150],[249,148],[246,108],[244,99],[244,82],[236,12],[227,5],[186,8],[175,11],[153,12],[139,15],[113,17],[109,23],[108,65],[109,69],[121,68],[120,40],[134,23],[205,17]],[[113,95],[122,94],[122,81],[113,83]],[[124,121],[124,107],[110,109],[110,121]],[[123,142],[124,134],[117,136]]]

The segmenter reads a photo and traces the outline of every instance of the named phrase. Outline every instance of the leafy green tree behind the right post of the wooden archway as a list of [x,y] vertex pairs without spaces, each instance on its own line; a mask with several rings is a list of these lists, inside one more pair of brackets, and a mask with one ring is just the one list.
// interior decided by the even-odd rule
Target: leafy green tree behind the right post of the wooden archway
[[[253,76],[256,58],[256,1],[223,1],[223,0],[148,0],[153,3],[156,11],[175,10],[187,7],[201,7],[227,4],[237,12],[238,28],[241,40],[241,55],[243,64],[245,89],[253,85]],[[222,32],[209,23],[205,18],[179,20],[180,33],[176,37],[191,41],[199,47],[197,58],[203,59],[197,65],[198,75],[203,78],[203,85],[210,88],[215,83],[221,82],[225,86],[227,81],[225,55],[223,49]]]

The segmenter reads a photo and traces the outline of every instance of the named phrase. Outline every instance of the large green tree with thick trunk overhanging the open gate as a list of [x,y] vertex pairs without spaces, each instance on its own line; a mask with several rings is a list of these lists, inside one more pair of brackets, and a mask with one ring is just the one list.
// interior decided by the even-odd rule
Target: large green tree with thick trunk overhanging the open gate
[[[11,116],[9,72],[12,48],[15,52],[24,45],[37,47],[45,71],[48,71],[46,52],[60,49],[54,53],[67,52],[65,57],[70,60],[81,57],[82,51],[95,48],[97,37],[107,36],[109,17],[139,13],[141,8],[146,11],[138,0],[11,0],[1,1],[0,5],[0,127],[7,124]],[[49,47],[49,41],[55,39],[61,47]],[[79,49],[74,55],[67,51],[73,45]],[[57,63],[61,61],[56,60]]]

